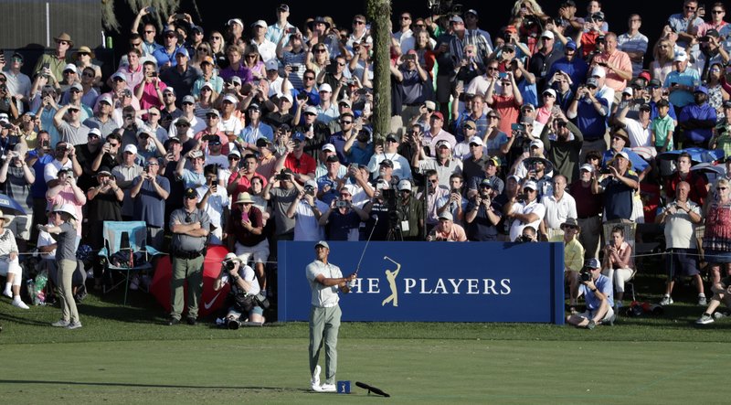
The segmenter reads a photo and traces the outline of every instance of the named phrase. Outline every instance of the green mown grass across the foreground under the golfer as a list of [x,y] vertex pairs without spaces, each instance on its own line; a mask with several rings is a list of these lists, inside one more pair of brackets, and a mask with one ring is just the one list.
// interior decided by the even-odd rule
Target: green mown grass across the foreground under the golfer
[[[0,300],[0,398],[8,403],[722,403],[731,319],[697,327],[680,297],[660,316],[593,331],[542,324],[344,323],[337,379],[353,394],[309,391],[307,324],[236,331],[163,325],[144,293],[90,295],[83,327],[60,310]],[[693,297],[691,297],[692,299]],[[323,364],[321,356],[321,363]],[[323,370],[324,375],[324,370]],[[12,402],[11,402],[12,401]]]

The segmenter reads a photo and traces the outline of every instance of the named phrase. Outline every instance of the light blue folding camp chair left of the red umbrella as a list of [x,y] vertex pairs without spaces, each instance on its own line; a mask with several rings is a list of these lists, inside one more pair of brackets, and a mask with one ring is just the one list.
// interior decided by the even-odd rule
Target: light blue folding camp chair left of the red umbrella
[[[144,221],[104,221],[102,229],[104,247],[99,257],[104,264],[104,272],[111,278],[111,291],[124,283],[124,304],[130,288],[132,273],[153,269],[152,259],[160,254],[152,246],[147,246],[147,226]],[[112,272],[119,272],[122,280],[114,283]]]

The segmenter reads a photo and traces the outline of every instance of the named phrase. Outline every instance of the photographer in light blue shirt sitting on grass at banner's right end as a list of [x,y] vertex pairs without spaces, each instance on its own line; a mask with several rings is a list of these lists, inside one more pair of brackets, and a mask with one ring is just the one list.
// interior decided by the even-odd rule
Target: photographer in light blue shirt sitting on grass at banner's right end
[[611,280],[601,274],[599,259],[589,259],[579,272],[581,285],[578,287],[578,296],[582,294],[587,302],[587,310],[581,314],[567,316],[566,322],[578,327],[594,329],[599,324],[614,324],[614,299],[612,296]]

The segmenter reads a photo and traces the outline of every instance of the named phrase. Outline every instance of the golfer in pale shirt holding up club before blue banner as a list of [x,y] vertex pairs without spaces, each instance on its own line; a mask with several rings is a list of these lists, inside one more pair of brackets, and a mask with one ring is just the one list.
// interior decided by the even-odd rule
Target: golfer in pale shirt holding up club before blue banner
[[[335,392],[337,370],[337,331],[340,328],[340,300],[338,290],[348,293],[347,282],[355,280],[355,273],[343,277],[340,268],[327,262],[330,245],[321,240],[314,245],[315,260],[307,265],[307,280],[313,291],[310,308],[310,380],[313,391]],[[325,346],[325,383],[320,386],[320,347]]]

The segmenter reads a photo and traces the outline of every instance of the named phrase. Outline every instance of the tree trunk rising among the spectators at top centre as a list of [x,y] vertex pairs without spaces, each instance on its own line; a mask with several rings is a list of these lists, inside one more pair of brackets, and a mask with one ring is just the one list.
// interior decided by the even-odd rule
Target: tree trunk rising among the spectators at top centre
[[383,139],[391,127],[391,2],[366,0],[373,37],[373,135]]

